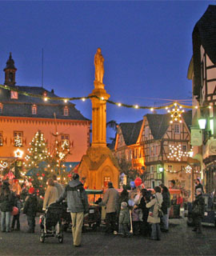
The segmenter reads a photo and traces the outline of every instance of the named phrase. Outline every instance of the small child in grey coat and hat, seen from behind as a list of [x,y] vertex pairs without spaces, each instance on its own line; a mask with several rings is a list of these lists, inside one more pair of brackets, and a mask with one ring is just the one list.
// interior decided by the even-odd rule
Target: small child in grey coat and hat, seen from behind
[[121,203],[121,210],[120,210],[118,222],[119,222],[120,229],[122,230],[122,237],[123,238],[130,237],[130,232],[128,229],[130,225],[130,214],[129,214],[129,210],[126,202]]

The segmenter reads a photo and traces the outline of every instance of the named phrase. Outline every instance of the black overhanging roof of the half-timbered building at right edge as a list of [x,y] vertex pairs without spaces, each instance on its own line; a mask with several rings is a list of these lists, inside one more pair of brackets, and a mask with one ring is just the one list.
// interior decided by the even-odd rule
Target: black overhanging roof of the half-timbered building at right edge
[[193,56],[194,56],[194,95],[200,94],[200,46],[206,51],[210,60],[216,64],[216,6],[208,6],[194,26],[193,31]]

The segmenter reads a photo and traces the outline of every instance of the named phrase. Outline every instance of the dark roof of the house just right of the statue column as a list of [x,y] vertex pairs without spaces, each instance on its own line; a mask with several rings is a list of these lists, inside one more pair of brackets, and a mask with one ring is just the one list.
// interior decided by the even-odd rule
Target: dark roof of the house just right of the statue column
[[121,122],[119,124],[126,145],[133,145],[138,140],[138,134],[142,126],[142,120],[138,122]]

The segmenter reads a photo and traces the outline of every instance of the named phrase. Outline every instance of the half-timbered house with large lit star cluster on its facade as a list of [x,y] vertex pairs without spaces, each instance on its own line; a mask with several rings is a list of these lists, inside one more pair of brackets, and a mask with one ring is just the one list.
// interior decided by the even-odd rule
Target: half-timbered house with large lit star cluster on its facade
[[182,122],[170,123],[170,114],[146,114],[140,145],[144,146],[146,187],[160,183],[189,188],[186,166],[190,150],[191,111],[182,115]]

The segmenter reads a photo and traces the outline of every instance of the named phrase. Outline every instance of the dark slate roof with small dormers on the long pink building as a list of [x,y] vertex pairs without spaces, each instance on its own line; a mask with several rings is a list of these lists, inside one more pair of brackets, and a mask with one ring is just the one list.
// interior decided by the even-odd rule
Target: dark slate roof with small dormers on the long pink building
[[[30,94],[43,95],[46,91],[47,97],[58,97],[53,92],[50,92],[42,87],[34,86],[15,86],[16,89],[26,91]],[[10,98],[10,90],[0,89],[0,102],[3,105],[0,116],[10,117],[29,117],[29,118],[56,118],[72,119],[72,120],[88,120],[76,108],[73,103],[63,102],[62,100],[48,100],[44,102],[42,98],[34,98],[23,94],[18,94],[18,99]],[[31,107],[35,104],[37,106],[37,114],[32,114]],[[63,115],[64,106],[69,109],[69,115]]]

